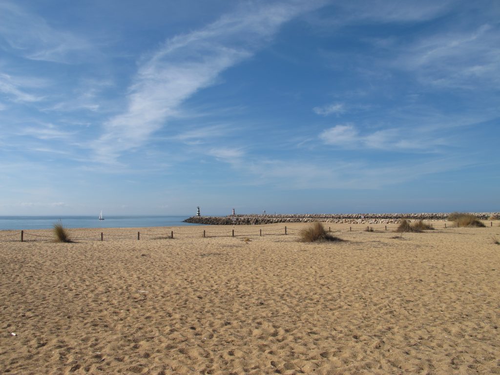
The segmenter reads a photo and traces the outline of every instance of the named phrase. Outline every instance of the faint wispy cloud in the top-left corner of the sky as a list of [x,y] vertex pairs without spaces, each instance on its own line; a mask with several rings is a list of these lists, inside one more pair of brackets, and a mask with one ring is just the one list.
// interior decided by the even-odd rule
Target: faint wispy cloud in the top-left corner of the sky
[[[0,40],[17,54],[32,60],[67,62],[68,58],[91,48],[80,36],[51,27],[39,15],[10,1],[0,2]],[[2,43],[0,43],[0,48]]]

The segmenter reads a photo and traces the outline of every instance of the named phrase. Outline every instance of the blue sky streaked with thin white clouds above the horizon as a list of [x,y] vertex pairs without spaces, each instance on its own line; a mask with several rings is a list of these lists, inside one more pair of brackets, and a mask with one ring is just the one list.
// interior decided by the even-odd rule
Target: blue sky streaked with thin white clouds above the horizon
[[499,211],[500,3],[0,0],[0,214]]

